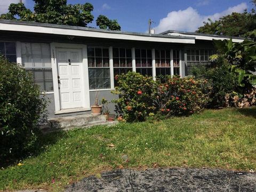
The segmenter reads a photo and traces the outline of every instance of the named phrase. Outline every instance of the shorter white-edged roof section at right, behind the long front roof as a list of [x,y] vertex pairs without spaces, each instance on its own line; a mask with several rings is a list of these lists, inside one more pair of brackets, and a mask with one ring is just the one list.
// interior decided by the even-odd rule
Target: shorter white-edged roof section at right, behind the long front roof
[[213,35],[213,34],[203,34],[203,33],[194,33],[194,32],[185,32],[185,31],[177,31],[177,30],[167,30],[161,33],[161,35],[174,35],[174,36],[186,36],[186,37],[195,37],[196,39],[201,40],[209,40],[212,39],[233,39],[233,42],[243,42],[245,37],[234,37],[234,36],[224,36],[224,35]]

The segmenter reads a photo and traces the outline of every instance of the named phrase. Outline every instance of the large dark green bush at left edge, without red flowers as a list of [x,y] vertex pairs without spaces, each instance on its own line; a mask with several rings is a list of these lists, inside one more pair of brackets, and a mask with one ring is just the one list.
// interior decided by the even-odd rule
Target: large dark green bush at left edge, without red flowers
[[[38,120],[46,101],[33,77],[16,63],[0,57],[0,159],[10,161],[36,140]],[[2,162],[0,161],[0,162]],[[0,163],[1,164],[1,163]]]

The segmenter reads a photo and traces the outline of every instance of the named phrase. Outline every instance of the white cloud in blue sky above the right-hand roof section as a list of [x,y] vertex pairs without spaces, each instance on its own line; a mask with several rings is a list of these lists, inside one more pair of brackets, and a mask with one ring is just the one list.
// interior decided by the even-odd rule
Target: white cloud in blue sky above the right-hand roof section
[[242,13],[247,9],[246,3],[241,3],[227,10],[212,15],[201,15],[196,9],[188,7],[186,10],[172,11],[167,14],[166,18],[159,21],[159,25],[155,27],[156,33],[161,33],[166,30],[180,30],[180,31],[195,31],[198,27],[203,25],[208,18],[218,20],[224,15],[233,12]]

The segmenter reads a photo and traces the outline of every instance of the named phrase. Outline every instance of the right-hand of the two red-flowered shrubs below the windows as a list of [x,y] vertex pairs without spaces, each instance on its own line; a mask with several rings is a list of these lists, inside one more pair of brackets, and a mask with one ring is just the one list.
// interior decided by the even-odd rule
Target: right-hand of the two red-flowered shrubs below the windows
[[189,115],[204,108],[209,100],[210,84],[193,77],[165,77],[165,83],[158,83],[155,107],[166,116]]

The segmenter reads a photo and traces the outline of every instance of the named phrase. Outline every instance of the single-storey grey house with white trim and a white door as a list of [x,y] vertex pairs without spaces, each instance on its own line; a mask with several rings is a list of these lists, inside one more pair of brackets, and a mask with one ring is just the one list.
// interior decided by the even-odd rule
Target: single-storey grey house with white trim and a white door
[[[210,65],[212,39],[228,38],[0,20],[0,52],[33,73],[50,100],[49,117],[90,113],[97,90],[100,98],[114,99],[114,77],[127,71],[153,78],[160,74],[185,77],[193,66]],[[234,42],[243,40],[233,37]]]

